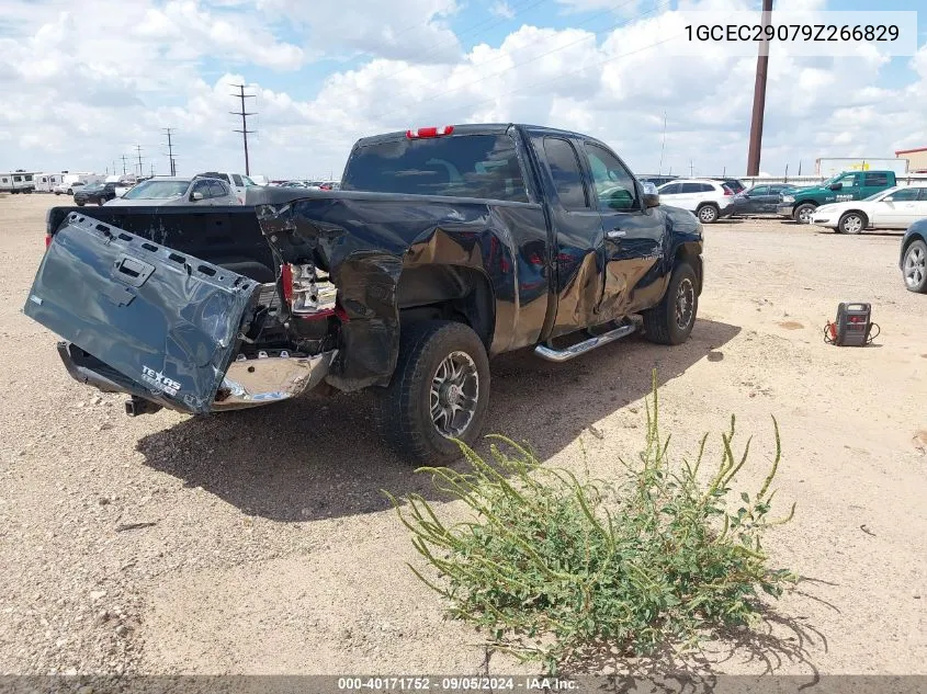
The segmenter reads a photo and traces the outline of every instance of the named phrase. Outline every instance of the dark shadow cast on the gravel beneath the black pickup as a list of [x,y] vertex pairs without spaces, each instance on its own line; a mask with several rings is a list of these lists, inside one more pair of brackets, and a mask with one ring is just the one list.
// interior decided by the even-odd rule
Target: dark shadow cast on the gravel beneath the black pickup
[[[529,442],[544,460],[593,422],[649,394],[654,367],[666,383],[739,331],[700,319],[691,339],[674,348],[632,335],[563,364],[530,351],[502,355],[493,362],[486,431]],[[383,511],[389,508],[384,489],[437,499],[430,476],[416,474],[380,443],[372,398],[362,391],[191,418],[136,447],[151,468],[275,521]]]

